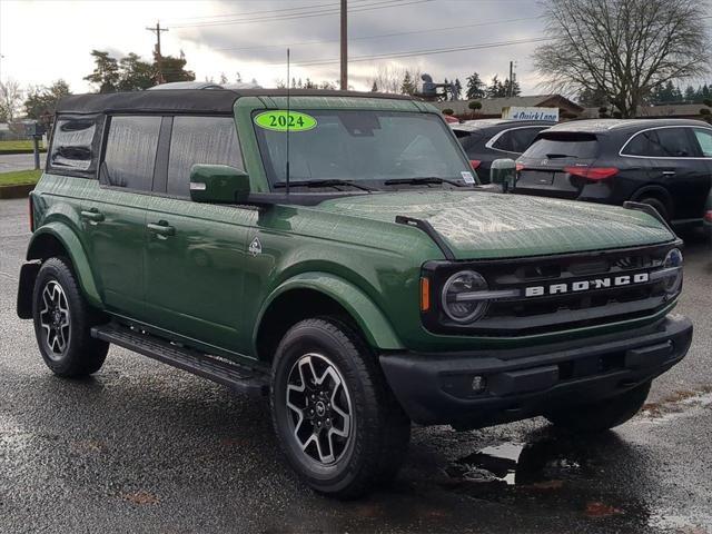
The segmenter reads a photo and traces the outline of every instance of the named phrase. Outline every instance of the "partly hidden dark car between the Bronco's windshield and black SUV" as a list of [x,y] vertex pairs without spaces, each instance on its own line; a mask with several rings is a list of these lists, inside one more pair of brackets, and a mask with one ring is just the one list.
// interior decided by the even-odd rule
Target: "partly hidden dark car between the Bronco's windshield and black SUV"
[[516,159],[536,135],[556,122],[543,120],[479,119],[451,125],[479,181],[490,182],[492,161]]

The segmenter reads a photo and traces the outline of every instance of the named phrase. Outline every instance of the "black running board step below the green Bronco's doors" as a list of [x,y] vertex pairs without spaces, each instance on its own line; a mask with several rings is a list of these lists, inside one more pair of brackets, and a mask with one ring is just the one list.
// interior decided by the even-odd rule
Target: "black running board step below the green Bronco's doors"
[[91,328],[91,337],[113,343],[164,364],[202,376],[239,393],[263,396],[269,390],[269,379],[265,373],[174,345],[138,329],[109,323]]

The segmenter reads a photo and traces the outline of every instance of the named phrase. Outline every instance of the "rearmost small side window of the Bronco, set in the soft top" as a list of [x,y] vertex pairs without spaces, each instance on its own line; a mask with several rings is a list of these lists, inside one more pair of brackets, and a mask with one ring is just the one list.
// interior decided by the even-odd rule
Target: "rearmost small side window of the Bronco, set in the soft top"
[[97,118],[59,118],[55,127],[49,167],[86,174],[96,169],[100,122]]

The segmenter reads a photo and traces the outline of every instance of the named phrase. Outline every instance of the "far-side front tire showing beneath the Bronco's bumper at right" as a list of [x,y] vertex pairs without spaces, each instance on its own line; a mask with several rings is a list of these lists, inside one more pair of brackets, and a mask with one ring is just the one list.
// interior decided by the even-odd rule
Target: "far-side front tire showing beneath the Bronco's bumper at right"
[[605,432],[622,425],[640,412],[650,393],[650,386],[651,382],[646,382],[616,397],[552,412],[546,418],[555,426],[572,433]]

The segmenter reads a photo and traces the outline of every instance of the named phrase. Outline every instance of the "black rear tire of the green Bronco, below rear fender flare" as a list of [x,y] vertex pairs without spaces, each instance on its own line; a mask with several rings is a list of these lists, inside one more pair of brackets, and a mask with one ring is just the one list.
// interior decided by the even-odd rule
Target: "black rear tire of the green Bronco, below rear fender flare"
[[[43,296],[46,290],[48,294]],[[47,317],[51,315],[51,312],[47,312],[47,300],[51,300],[50,294],[59,295],[59,307],[67,309],[69,324],[62,335],[62,349],[59,349],[61,344],[55,343],[56,339],[52,339],[50,347],[49,329],[43,326],[48,323]],[[60,316],[62,315],[60,312]],[[106,318],[87,304],[66,258],[49,258],[40,267],[32,291],[32,318],[40,354],[52,373],[71,378],[90,375],[101,368],[109,344],[92,338],[90,330]]]

